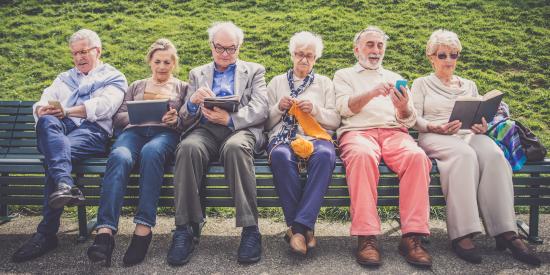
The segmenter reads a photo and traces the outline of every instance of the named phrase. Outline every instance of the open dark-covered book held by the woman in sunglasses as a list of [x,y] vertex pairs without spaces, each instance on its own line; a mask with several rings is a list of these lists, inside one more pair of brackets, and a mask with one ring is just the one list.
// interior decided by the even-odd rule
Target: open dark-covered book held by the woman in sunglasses
[[474,124],[481,124],[482,117],[489,123],[493,120],[503,96],[501,91],[492,90],[483,97],[459,97],[455,101],[449,122],[460,120],[461,129],[470,129]]

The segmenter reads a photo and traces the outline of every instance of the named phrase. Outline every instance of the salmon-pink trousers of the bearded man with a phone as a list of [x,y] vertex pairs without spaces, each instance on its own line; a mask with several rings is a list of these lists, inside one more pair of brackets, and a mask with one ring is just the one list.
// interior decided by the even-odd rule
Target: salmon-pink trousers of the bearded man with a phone
[[340,149],[351,200],[351,235],[382,233],[376,211],[381,159],[399,177],[401,233],[430,233],[428,187],[432,163],[406,129],[346,132],[340,138]]

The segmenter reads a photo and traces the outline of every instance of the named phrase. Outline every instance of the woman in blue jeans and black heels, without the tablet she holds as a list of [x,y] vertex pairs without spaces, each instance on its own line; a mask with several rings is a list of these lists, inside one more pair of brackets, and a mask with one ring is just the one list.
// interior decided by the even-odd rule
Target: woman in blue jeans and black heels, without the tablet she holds
[[[107,266],[115,246],[113,235],[118,229],[126,185],[135,163],[139,163],[140,172],[139,204],[134,217],[136,228],[123,262],[127,266],[134,265],[145,258],[152,238],[151,228],[155,226],[164,165],[173,158],[183,130],[178,110],[183,105],[188,85],[172,76],[178,66],[176,48],[169,40],[159,39],[149,48],[146,60],[153,75],[130,85],[114,117],[114,127],[122,130],[122,134],[107,161],[101,185],[97,235],[88,248],[92,262],[105,260]],[[166,100],[167,111],[161,121],[131,124],[128,102],[148,100]]]

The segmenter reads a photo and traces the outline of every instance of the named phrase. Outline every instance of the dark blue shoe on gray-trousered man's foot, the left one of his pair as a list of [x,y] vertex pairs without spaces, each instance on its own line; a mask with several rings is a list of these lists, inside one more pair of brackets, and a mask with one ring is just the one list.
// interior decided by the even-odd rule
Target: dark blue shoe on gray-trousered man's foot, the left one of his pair
[[195,240],[191,227],[178,226],[178,228],[174,231],[172,244],[168,250],[166,260],[170,265],[184,265],[191,259],[194,249]]

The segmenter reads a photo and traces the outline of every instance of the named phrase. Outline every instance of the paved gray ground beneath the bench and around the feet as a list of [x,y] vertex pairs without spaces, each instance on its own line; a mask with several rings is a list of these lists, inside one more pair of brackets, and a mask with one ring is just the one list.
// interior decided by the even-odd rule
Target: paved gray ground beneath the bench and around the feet
[[[153,242],[144,263],[125,268],[122,257],[131,238],[131,218],[121,219],[121,230],[116,236],[113,266],[105,268],[91,264],[86,249],[92,239],[76,244],[76,219],[64,218],[59,247],[46,256],[31,262],[15,264],[10,262],[11,254],[34,232],[39,217],[18,217],[12,222],[0,225],[0,273],[47,273],[47,274],[550,274],[550,215],[541,216],[540,235],[544,244],[536,246],[543,260],[539,268],[518,263],[509,253],[497,252],[494,241],[485,235],[478,236],[476,243],[484,258],[480,265],[468,264],[454,256],[449,250],[445,222],[432,220],[432,236],[427,248],[434,257],[432,269],[417,269],[408,265],[397,252],[399,231],[397,222],[383,224],[384,234],[380,238],[383,265],[379,268],[365,268],[355,262],[353,256],[356,238],[350,237],[349,223],[320,222],[316,228],[319,246],[307,257],[292,254],[283,241],[286,227],[282,222],[269,219],[260,221],[263,234],[263,255],[259,263],[240,265],[236,262],[240,231],[234,228],[232,219],[210,218],[203,230],[198,248],[191,262],[182,267],[171,267],[166,263],[166,252],[171,241],[173,218],[160,217],[155,228]],[[526,220],[526,218],[524,219]]]

